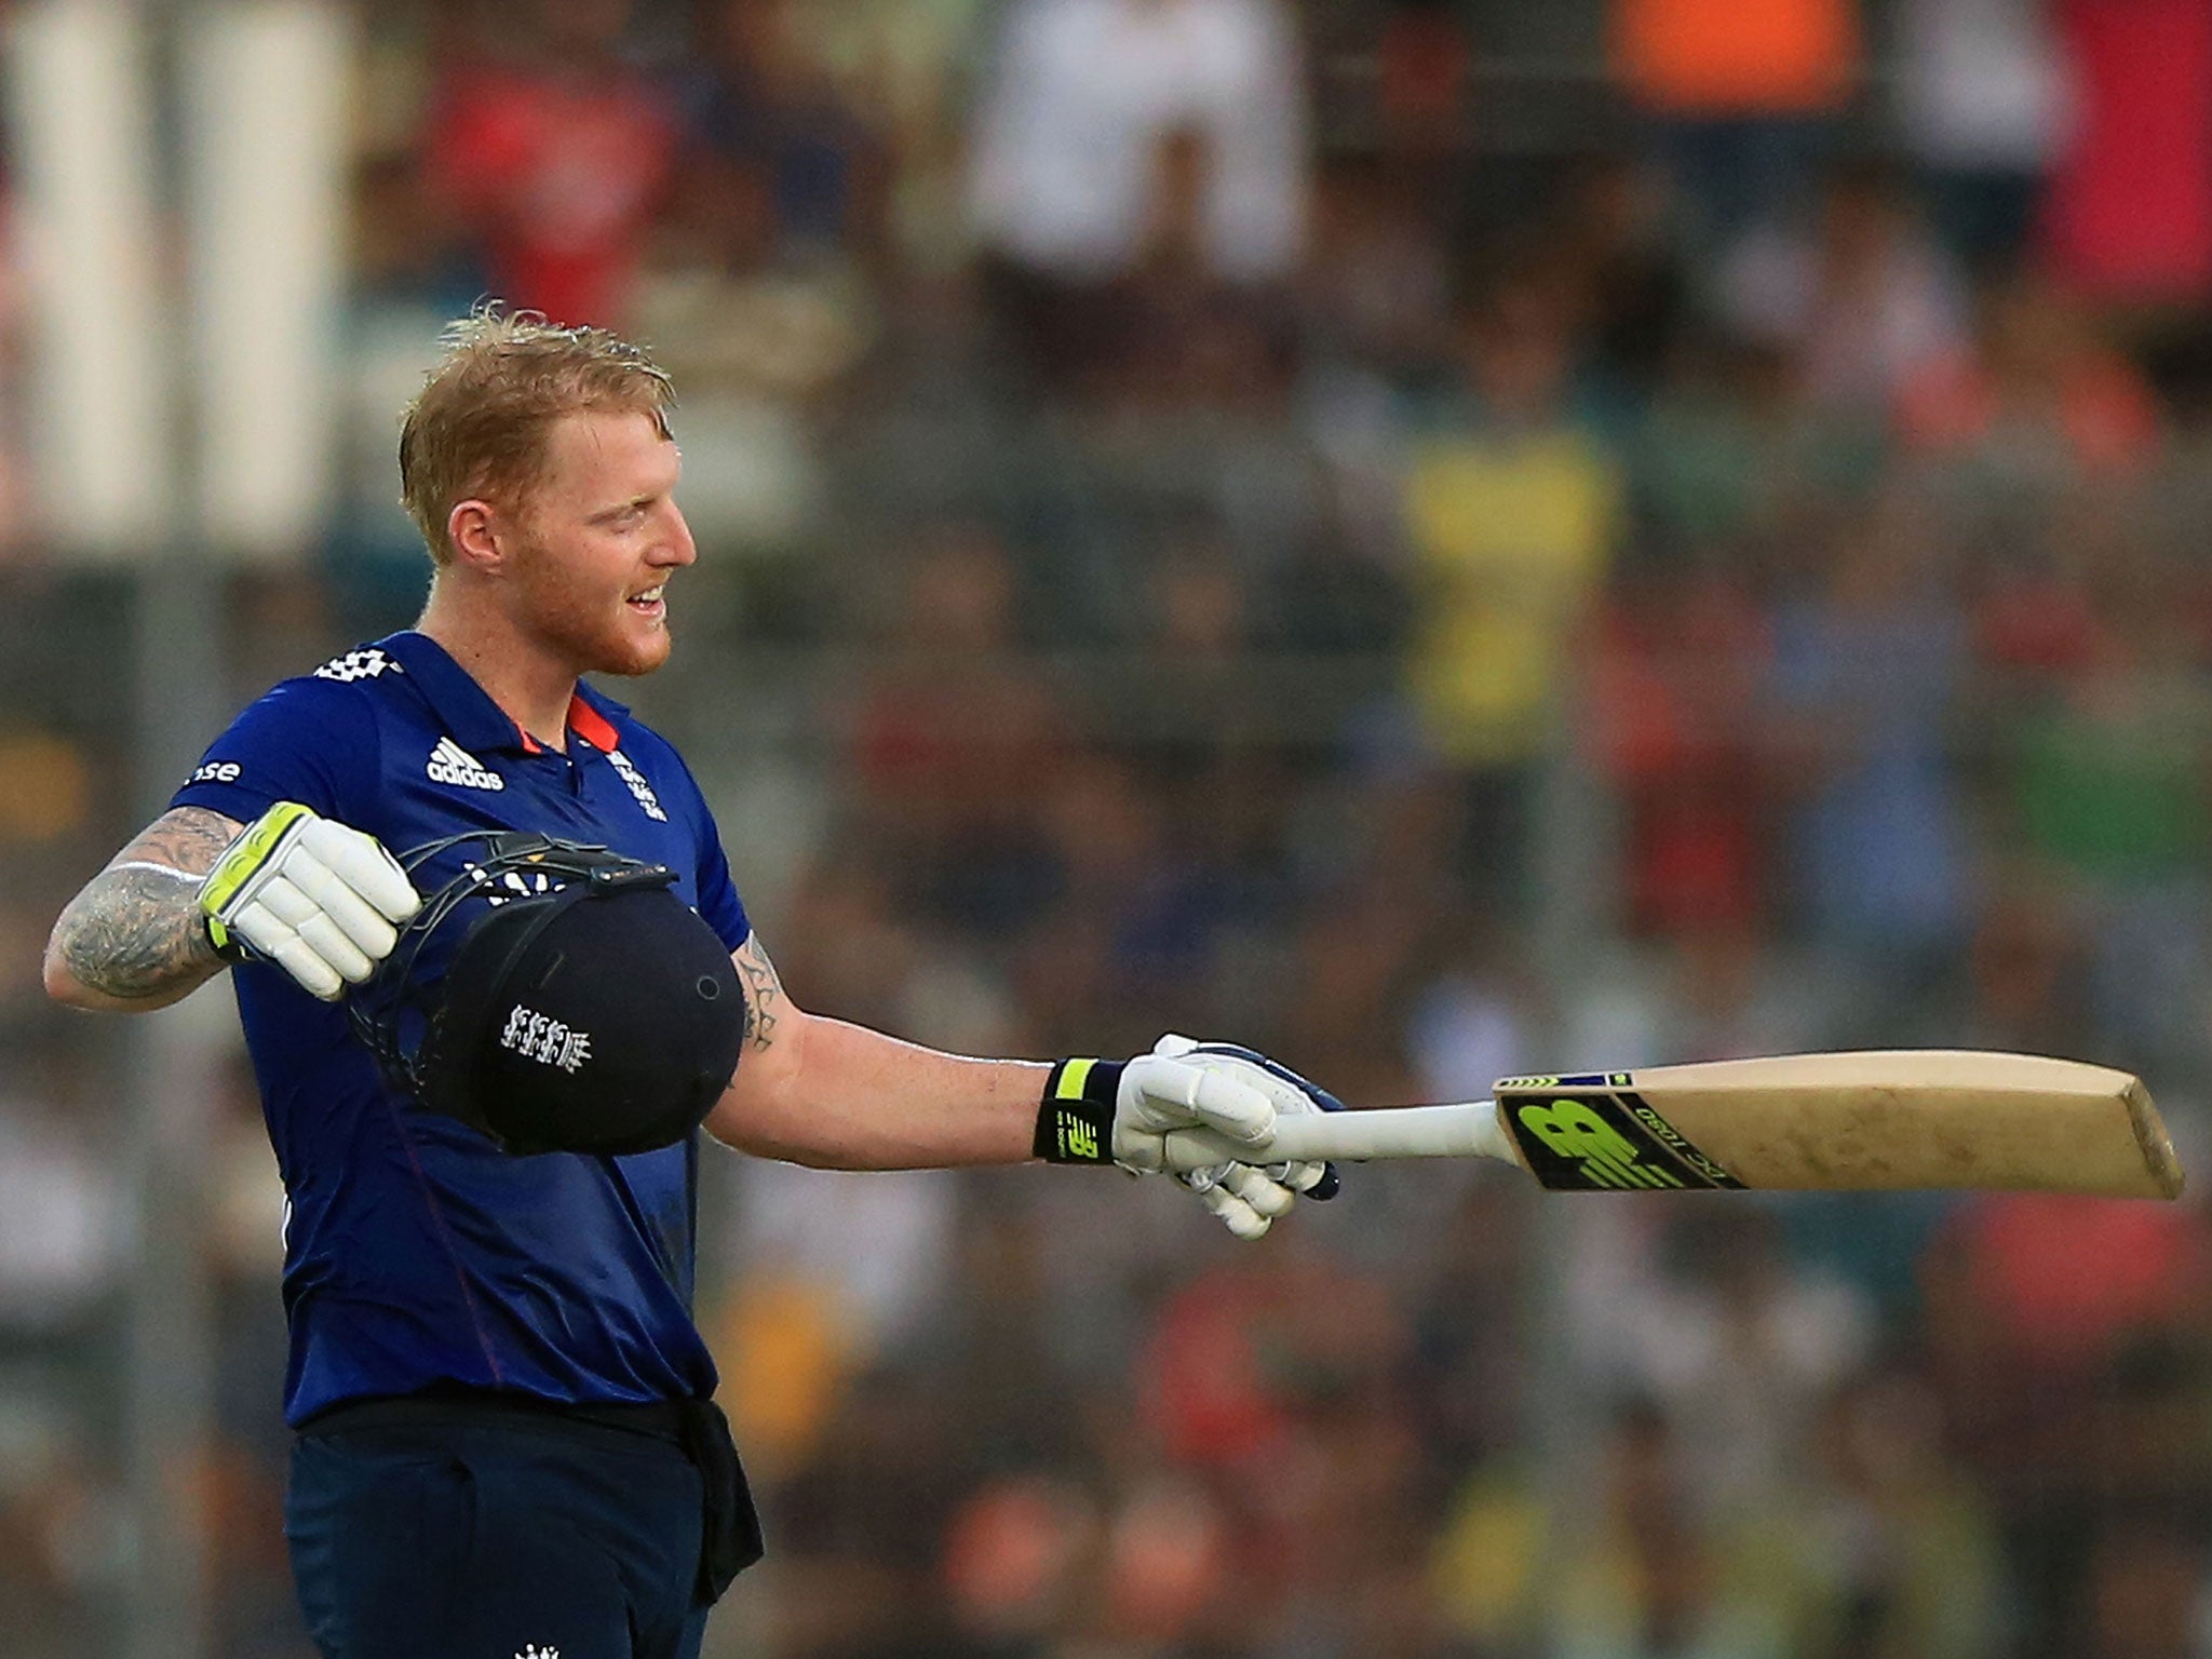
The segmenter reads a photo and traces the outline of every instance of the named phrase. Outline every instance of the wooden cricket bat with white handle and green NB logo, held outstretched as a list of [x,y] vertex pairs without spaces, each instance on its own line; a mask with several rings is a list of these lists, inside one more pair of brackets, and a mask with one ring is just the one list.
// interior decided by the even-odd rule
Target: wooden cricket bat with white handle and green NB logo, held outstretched
[[1279,1117],[1263,1150],[1177,1130],[1168,1159],[1493,1157],[1553,1192],[1975,1188],[2181,1197],[2141,1077],[1971,1048],[1504,1077],[1495,1099]]

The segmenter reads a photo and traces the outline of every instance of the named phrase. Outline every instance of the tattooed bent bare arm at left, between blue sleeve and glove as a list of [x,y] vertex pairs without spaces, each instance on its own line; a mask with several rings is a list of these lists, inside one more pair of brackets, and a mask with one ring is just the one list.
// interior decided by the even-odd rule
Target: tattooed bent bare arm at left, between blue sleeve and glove
[[199,878],[237,832],[219,812],[177,807],[115,854],[53,925],[53,949],[77,982],[137,1000],[210,973],[219,958],[199,918]]

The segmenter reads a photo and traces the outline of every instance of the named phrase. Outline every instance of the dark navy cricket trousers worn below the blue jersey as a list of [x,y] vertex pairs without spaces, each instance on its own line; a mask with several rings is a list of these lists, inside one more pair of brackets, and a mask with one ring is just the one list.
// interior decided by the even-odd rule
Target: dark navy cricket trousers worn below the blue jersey
[[325,1659],[697,1659],[701,1475],[571,1420],[310,1427],[285,1540]]

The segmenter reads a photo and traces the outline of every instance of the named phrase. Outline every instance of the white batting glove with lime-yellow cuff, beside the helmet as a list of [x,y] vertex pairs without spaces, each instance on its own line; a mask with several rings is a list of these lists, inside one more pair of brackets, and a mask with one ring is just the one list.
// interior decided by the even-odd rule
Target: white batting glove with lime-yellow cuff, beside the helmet
[[394,922],[422,909],[422,896],[376,836],[279,801],[223,849],[199,883],[199,909],[217,951],[276,962],[336,1002],[392,953]]

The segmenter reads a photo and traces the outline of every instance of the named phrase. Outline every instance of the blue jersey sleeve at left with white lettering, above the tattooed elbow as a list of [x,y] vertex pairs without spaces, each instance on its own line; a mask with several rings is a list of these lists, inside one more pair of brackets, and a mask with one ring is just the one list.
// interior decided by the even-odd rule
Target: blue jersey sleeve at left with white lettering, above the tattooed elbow
[[230,721],[170,796],[252,823],[299,801],[349,823],[376,792],[376,719],[356,686],[288,679]]

